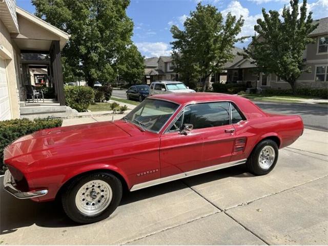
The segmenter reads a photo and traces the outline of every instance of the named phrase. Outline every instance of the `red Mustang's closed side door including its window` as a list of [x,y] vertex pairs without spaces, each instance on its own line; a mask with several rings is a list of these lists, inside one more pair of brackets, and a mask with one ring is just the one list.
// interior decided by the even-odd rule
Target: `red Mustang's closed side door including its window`
[[218,102],[185,108],[175,128],[192,124],[194,129],[187,135],[181,135],[173,126],[170,129],[173,132],[161,136],[161,177],[230,161],[235,128],[230,125],[229,107],[227,102]]

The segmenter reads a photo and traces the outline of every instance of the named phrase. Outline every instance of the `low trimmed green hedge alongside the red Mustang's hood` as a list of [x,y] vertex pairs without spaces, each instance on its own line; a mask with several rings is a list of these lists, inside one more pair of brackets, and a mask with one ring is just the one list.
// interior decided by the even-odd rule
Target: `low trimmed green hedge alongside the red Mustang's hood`
[[35,131],[60,127],[61,119],[10,119],[0,121],[0,174],[5,172],[3,165],[4,149],[18,137],[31,134]]

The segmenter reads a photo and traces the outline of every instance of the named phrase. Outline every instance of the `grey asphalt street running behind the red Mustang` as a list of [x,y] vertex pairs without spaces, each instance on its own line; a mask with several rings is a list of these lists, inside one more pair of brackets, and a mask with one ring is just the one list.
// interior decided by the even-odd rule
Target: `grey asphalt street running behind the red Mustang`
[[[125,90],[113,90],[113,97],[126,99]],[[255,102],[261,109],[275,114],[296,114],[303,119],[305,128],[328,132],[328,107],[275,102]]]

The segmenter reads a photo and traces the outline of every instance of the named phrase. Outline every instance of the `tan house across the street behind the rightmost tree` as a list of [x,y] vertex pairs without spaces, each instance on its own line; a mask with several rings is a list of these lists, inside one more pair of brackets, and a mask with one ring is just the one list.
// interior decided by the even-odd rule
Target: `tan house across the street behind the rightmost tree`
[[[328,87],[328,17],[315,20],[314,24],[317,23],[318,27],[310,34],[315,43],[306,46],[303,53],[304,65],[311,68],[311,73],[302,73],[296,81],[298,87],[312,89]],[[291,89],[286,81],[275,74],[258,73],[252,60],[244,59],[238,54],[232,63],[226,64],[224,69],[228,71],[228,83],[246,83],[258,90]]]

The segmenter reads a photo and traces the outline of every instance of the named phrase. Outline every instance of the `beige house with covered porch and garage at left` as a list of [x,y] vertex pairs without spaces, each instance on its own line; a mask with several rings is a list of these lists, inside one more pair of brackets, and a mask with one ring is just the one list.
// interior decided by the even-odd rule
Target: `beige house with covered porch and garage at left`
[[60,51],[68,40],[15,0],[0,1],[0,120],[66,112]]

